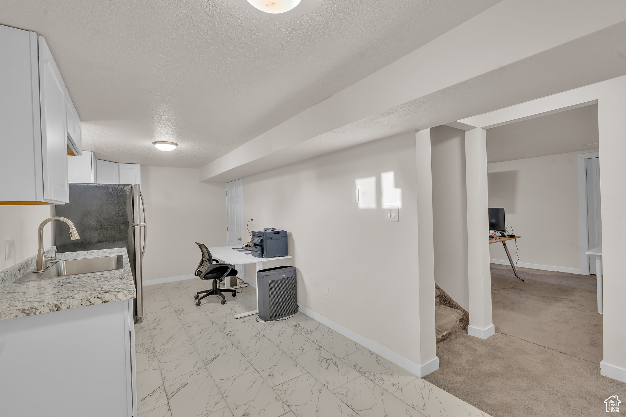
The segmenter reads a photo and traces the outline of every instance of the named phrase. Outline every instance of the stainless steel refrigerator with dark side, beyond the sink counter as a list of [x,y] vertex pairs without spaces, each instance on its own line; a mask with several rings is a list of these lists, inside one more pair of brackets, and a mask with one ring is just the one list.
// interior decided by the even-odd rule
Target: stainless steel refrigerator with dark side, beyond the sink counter
[[68,225],[54,222],[57,252],[126,248],[137,289],[135,323],[141,321],[141,259],[146,244],[146,213],[139,184],[70,183],[69,203],[58,204],[55,211],[56,216],[70,219],[81,237],[69,239]]

